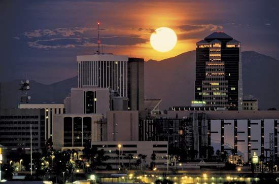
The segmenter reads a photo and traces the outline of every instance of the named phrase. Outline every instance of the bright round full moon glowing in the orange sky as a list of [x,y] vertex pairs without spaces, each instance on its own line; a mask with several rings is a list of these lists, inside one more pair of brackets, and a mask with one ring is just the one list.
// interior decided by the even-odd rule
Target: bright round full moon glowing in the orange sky
[[168,52],[177,44],[177,34],[171,28],[159,27],[150,36],[150,44],[156,51]]

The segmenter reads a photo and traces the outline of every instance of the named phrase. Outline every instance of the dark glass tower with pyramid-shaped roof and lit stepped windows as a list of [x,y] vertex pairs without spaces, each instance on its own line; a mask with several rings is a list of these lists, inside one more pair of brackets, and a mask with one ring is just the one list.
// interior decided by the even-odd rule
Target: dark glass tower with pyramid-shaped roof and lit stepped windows
[[242,109],[240,42],[224,32],[196,43],[195,99],[210,107]]

